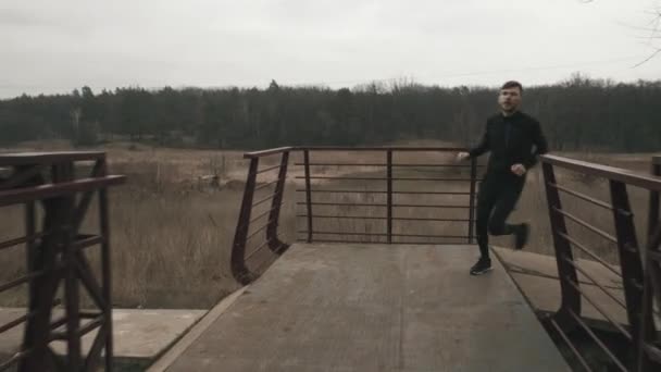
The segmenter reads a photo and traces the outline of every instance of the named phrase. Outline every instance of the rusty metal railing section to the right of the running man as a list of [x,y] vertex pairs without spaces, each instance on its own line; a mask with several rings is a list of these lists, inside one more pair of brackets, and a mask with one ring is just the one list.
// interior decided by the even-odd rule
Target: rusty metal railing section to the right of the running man
[[[563,340],[574,351],[577,360],[587,371],[591,367],[586,361],[579,348],[572,343],[570,333],[579,330],[585,333],[595,345],[603,351],[603,355],[612,362],[615,369],[621,371],[658,371],[661,368],[661,354],[659,354],[658,324],[654,324],[653,301],[661,300],[659,296],[659,281],[661,274],[658,255],[661,243],[661,225],[658,221],[659,191],[661,190],[661,177],[645,175],[612,166],[599,165],[584,161],[572,160],[556,156],[541,157],[542,172],[546,184],[549,216],[552,228],[556,259],[560,277],[562,302],[558,312],[549,319],[553,330],[558,332]],[[601,177],[608,182],[610,200],[599,200],[593,196],[560,185],[556,176],[556,169],[569,170],[579,174]],[[659,174],[658,163],[653,168]],[[627,186],[639,187],[650,191],[649,204],[649,232],[647,251],[644,252],[638,244],[634,223],[634,211],[629,203]],[[601,210],[612,213],[614,233],[607,232],[594,226],[585,219],[579,218],[562,208],[560,195],[571,196],[587,206],[595,206]],[[600,255],[586,244],[579,241],[569,233],[566,222],[584,228],[600,239],[611,244],[618,251],[620,270],[606,262]],[[593,273],[574,259],[574,250],[581,251],[595,262],[599,262],[609,272],[621,277],[624,288],[624,299],[619,298],[609,288],[600,284]],[[643,257],[647,258],[647,272],[643,270]],[[585,286],[578,282],[578,275],[583,276],[590,285],[595,286],[612,299],[613,303],[626,312],[626,324],[618,322],[607,307],[598,305],[594,294],[588,294]],[[611,323],[614,330],[621,334],[627,345],[628,355],[616,355],[608,347],[582,318],[583,301],[590,303],[603,318]],[[645,300],[645,301],[644,301]]]

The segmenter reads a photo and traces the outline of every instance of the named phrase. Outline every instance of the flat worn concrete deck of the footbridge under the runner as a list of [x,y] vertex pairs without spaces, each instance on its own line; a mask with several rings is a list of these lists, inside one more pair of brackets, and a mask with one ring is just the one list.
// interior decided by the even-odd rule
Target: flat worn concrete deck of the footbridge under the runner
[[569,371],[472,246],[297,244],[152,371]]

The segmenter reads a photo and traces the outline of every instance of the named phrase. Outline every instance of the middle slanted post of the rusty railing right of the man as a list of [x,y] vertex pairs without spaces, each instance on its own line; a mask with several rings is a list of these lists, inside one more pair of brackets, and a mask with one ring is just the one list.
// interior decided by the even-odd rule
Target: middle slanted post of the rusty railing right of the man
[[633,337],[633,349],[631,351],[636,356],[640,347],[639,332],[644,289],[643,262],[640,260],[640,249],[634,225],[634,213],[629,204],[626,185],[622,182],[610,179],[609,186],[613,204],[626,314]]

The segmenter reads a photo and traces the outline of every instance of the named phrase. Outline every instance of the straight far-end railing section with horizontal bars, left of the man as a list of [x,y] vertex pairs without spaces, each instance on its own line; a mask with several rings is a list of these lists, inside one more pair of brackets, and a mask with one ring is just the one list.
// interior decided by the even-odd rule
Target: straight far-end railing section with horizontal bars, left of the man
[[[304,181],[304,188],[298,188],[297,193],[304,193],[305,200],[299,201],[299,206],[305,207],[305,212],[297,214],[298,218],[305,219],[307,226],[305,230],[298,231],[298,234],[302,234],[305,237],[299,238],[299,240],[304,240],[308,243],[317,241],[317,243],[365,243],[365,240],[357,240],[357,239],[337,239],[333,237],[337,236],[361,236],[363,238],[370,238],[372,243],[387,243],[387,244],[439,244],[439,243],[473,243],[474,240],[474,220],[475,220],[475,189],[476,183],[479,181],[477,178],[477,163],[475,160],[470,161],[466,164],[458,164],[456,162],[431,162],[426,161],[423,163],[420,162],[397,162],[395,161],[395,157],[398,153],[408,152],[408,153],[427,153],[427,154],[451,154],[453,156],[458,151],[463,151],[462,148],[447,148],[447,147],[363,147],[363,148],[346,148],[346,147],[305,147],[298,148],[298,150],[303,153],[303,162],[296,163],[295,165],[304,168],[304,175],[297,176],[297,179]],[[312,153],[319,153],[321,156],[325,156],[327,158],[327,153],[332,151],[344,151],[347,153],[353,152],[372,152],[376,153],[379,157],[383,157],[381,162],[336,162],[336,161],[311,161]],[[377,169],[382,174],[379,175],[370,175],[370,176],[335,176],[335,175],[320,175],[314,172],[314,169],[319,168],[327,168],[335,166],[338,169],[342,168],[371,168]],[[429,170],[439,170],[439,169],[456,169],[456,170],[467,170],[467,175],[460,176],[401,176],[396,174],[397,170],[406,170],[406,169],[429,169]],[[330,182],[369,182],[376,183],[372,189],[337,189],[337,188],[323,188],[323,187],[312,187],[312,181],[330,181]],[[417,188],[412,190],[411,188],[402,188],[398,187],[398,184],[401,183],[410,183],[415,182],[416,184],[425,184],[429,183],[458,183],[466,185],[462,190],[429,190],[429,189],[421,189]],[[362,196],[385,196],[385,200],[381,202],[338,202],[338,201],[320,201],[314,200],[314,195],[327,195],[333,194],[336,196],[346,196],[346,195],[362,195]],[[395,197],[399,196],[416,196],[416,197],[428,197],[428,196],[456,196],[456,197],[464,197],[465,200],[462,203],[439,203],[431,202],[431,203],[411,203],[411,202],[401,202],[395,200]],[[372,211],[377,210],[373,215],[347,215],[342,214],[340,211],[334,210],[329,213],[319,213],[315,210],[320,208],[332,208],[332,207],[358,207],[362,208],[362,210],[371,209]],[[403,213],[398,213],[402,209],[408,209],[407,215]],[[420,218],[415,216],[420,210],[432,210],[437,213],[432,216]],[[464,210],[465,213],[463,216],[454,215],[439,215],[439,211],[446,210]],[[333,220],[333,219],[345,219],[351,221],[379,221],[383,222],[381,226],[381,231],[373,232],[349,232],[349,231],[329,231],[323,228],[316,228],[316,222],[319,220]],[[404,233],[400,228],[400,233],[397,233],[396,223],[400,222],[426,222],[426,223],[438,223],[438,222],[456,222],[462,223],[465,226],[465,234],[457,235],[457,234],[411,234]],[[378,228],[378,226],[377,226]],[[322,236],[315,237],[316,236]],[[327,236],[330,236],[328,238]]]

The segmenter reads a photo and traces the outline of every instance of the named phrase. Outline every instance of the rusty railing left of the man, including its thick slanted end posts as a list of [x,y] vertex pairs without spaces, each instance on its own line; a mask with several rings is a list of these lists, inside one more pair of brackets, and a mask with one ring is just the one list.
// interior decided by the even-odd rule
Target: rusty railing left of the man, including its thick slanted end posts
[[[297,233],[302,234],[304,237],[298,238],[299,241],[308,243],[364,243],[364,240],[358,240],[356,237],[373,238],[373,243],[387,243],[387,244],[441,244],[441,243],[473,243],[475,238],[474,234],[474,221],[475,221],[475,195],[476,185],[479,179],[477,178],[478,165],[475,160],[471,160],[466,163],[460,164],[456,162],[445,163],[438,161],[427,162],[397,162],[396,154],[398,153],[432,153],[432,154],[449,154],[453,156],[457,151],[462,151],[463,148],[447,148],[447,147],[360,147],[360,148],[348,148],[348,147],[284,147],[278,149],[271,149],[265,151],[249,152],[245,154],[245,159],[250,160],[248,175],[246,181],[246,187],[244,193],[244,200],[240,208],[239,221],[235,234],[233,252],[232,252],[232,269],[235,278],[240,283],[249,283],[254,280],[259,273],[259,268],[263,266],[269,259],[258,261],[260,251],[269,247],[270,250],[276,255],[284,252],[289,245],[283,243],[278,232],[278,221],[280,218],[280,206],[283,204],[283,194],[285,190],[285,182],[288,175],[287,166],[290,153],[297,153],[302,157],[302,160],[296,162],[294,165],[302,168],[302,175],[294,176],[294,179],[303,183],[301,187],[297,187],[296,193],[298,195],[304,195],[303,201],[296,202],[297,206],[303,207],[304,212],[297,213],[297,218],[304,219],[305,230],[299,230]],[[338,161],[313,161],[311,160],[312,154],[321,154],[326,157],[333,151],[342,152],[357,152],[365,153],[372,152],[381,157],[382,160],[377,162],[338,162]],[[266,157],[280,156],[279,164],[272,165],[260,170],[260,159]],[[320,168],[333,166],[338,169],[352,169],[359,170],[361,168],[378,169],[383,174],[381,175],[327,175],[326,173],[319,172]],[[466,171],[466,175],[461,176],[401,176],[397,174],[396,170],[439,170],[439,169],[454,169],[458,171]],[[260,174],[266,172],[277,171],[278,175],[275,181],[264,183],[258,186],[257,178]],[[338,172],[341,174],[341,172]],[[460,172],[461,173],[461,172]],[[377,183],[381,187],[378,189],[350,189],[350,188],[321,188],[313,187],[315,182],[372,182]],[[410,188],[398,187],[398,183],[415,182],[422,183],[435,183],[441,182],[465,184],[462,190],[422,190]],[[255,193],[260,190],[271,190],[270,186],[275,185],[273,193],[266,196],[260,197],[258,201],[255,199]],[[382,202],[364,201],[364,202],[341,202],[341,201],[328,201],[319,200],[314,196],[335,195],[336,199],[338,196],[347,195],[379,195],[385,197]],[[397,196],[458,196],[464,197],[466,200],[464,203],[407,203],[398,202]],[[271,209],[267,209],[252,218],[253,210],[262,203],[270,202]],[[334,207],[340,208],[363,208],[363,209],[377,209],[378,212],[373,215],[363,214],[342,214],[338,211],[334,212],[319,212],[322,209],[328,209]],[[398,213],[398,211],[407,209],[409,212],[407,215]],[[436,212],[437,215],[433,216],[417,216],[421,210],[431,210]],[[461,211],[461,215],[438,215],[438,212],[442,211]],[[260,227],[254,227],[255,223],[269,215],[269,220],[263,223]],[[378,222],[382,231],[379,232],[351,232],[341,230],[323,230],[317,228],[323,222],[327,220],[349,220],[349,221],[372,221]],[[397,223],[399,222],[416,222],[416,223],[460,223],[464,226],[464,234],[457,235],[441,235],[441,234],[411,234],[411,233],[398,233]],[[320,236],[322,236],[320,238]],[[326,236],[326,237],[324,237]],[[337,239],[328,238],[327,236],[340,236],[340,237],[353,237],[353,239]],[[262,239],[258,239],[258,238]],[[261,243],[257,248],[247,251],[249,240],[257,239]],[[426,239],[422,240],[421,239]],[[444,239],[444,240],[440,240]],[[431,241],[429,241],[431,240]],[[257,268],[257,269],[255,269]]]

